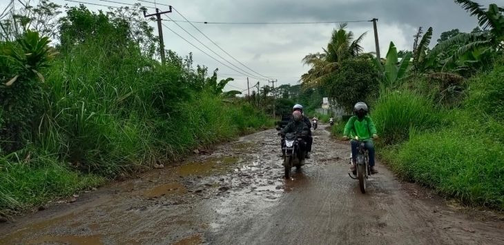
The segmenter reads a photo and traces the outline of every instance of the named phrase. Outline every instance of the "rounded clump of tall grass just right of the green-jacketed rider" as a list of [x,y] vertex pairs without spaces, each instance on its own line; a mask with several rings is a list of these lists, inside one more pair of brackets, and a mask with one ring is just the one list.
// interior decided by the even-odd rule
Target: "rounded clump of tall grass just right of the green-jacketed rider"
[[400,90],[385,92],[371,107],[371,118],[378,135],[386,144],[407,139],[412,130],[436,126],[442,115],[434,109],[432,99],[418,92]]

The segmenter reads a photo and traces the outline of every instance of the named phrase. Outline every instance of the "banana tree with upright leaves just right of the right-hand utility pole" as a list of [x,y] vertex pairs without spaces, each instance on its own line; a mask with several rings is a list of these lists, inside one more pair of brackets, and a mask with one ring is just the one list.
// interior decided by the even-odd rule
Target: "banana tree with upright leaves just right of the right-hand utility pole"
[[376,68],[380,72],[380,80],[382,88],[393,88],[399,84],[400,80],[406,75],[409,66],[411,55],[407,53],[401,61],[398,61],[397,48],[393,42],[390,42],[389,50],[385,58],[385,63],[375,59]]

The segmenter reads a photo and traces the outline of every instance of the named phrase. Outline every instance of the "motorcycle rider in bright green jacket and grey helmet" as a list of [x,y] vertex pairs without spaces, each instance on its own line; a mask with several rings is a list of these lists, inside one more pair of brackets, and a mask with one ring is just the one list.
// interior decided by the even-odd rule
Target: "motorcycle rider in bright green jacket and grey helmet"
[[[349,135],[351,138],[358,137],[360,141],[365,141],[365,148],[369,153],[369,166],[371,167],[371,173],[378,173],[378,171],[374,168],[374,144],[373,139],[378,139],[378,135],[376,134],[376,126],[374,126],[374,122],[371,117],[367,116],[367,105],[364,102],[358,102],[355,106],[353,106],[353,112],[356,114],[347,122],[345,126],[345,131],[343,132],[343,139],[349,139]],[[353,162],[356,162],[357,154],[358,154],[358,141],[351,140],[351,155]],[[351,171],[355,171],[355,164],[351,166]]]

